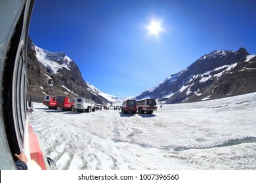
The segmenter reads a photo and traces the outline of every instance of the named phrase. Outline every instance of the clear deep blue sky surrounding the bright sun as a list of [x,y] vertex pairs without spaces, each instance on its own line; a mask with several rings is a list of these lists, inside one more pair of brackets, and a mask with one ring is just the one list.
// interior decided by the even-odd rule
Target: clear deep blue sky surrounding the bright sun
[[102,92],[128,97],[214,50],[256,54],[255,9],[253,0],[36,0],[29,35],[65,52]]

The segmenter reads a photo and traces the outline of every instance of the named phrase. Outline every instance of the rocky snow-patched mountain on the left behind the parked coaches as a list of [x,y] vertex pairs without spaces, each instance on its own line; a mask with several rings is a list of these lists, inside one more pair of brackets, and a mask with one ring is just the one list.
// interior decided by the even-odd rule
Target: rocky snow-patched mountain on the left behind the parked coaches
[[109,103],[100,92],[91,90],[81,71],[64,52],[51,52],[28,41],[28,94],[42,102],[45,95],[86,97],[96,103]]

